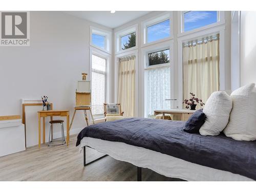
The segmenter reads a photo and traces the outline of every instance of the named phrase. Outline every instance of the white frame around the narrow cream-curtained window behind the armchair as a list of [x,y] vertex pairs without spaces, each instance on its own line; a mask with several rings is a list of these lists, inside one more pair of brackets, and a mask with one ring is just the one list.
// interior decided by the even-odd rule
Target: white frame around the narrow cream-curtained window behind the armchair
[[[135,55],[135,117],[139,117],[139,59],[138,50],[126,51],[115,55],[115,66],[114,66],[114,89],[115,89],[115,103],[117,103],[118,97],[118,71],[119,71],[119,59],[123,57],[129,57]],[[125,112],[124,112],[125,113]]]

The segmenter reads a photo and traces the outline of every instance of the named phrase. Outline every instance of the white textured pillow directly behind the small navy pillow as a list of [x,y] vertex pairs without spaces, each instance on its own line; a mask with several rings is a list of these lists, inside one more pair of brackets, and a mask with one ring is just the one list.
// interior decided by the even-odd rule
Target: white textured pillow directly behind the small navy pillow
[[231,109],[232,99],[225,91],[212,93],[203,109],[206,119],[199,133],[201,135],[219,135],[228,123]]

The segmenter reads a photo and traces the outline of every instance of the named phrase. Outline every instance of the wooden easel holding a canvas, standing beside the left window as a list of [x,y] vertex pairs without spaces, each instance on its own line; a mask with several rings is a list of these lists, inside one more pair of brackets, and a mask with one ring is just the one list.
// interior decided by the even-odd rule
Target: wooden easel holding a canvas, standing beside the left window
[[86,119],[87,126],[89,126],[87,111],[90,112],[90,116],[92,118],[93,124],[93,114],[91,109],[91,90],[90,90],[90,81],[86,81],[87,73],[82,73],[82,81],[78,81],[78,89],[76,90],[76,106],[74,107],[74,114],[69,126],[69,130],[71,129],[75,114],[77,110],[83,110],[84,118]]

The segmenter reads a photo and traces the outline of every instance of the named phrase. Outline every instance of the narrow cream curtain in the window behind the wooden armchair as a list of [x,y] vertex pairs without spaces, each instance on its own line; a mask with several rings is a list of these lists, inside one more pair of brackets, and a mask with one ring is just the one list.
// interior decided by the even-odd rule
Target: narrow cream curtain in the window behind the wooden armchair
[[133,117],[135,110],[135,56],[119,60],[118,103],[124,117]]

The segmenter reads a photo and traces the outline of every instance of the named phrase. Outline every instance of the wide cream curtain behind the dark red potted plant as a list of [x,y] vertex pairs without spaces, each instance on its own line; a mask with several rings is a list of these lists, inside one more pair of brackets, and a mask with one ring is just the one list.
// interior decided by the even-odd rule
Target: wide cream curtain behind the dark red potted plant
[[218,90],[219,36],[188,42],[183,46],[183,99],[190,98],[192,92],[205,103]]

